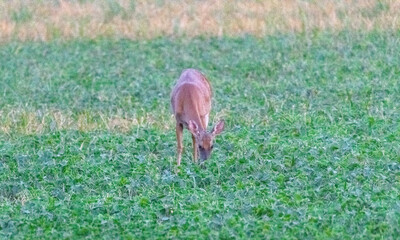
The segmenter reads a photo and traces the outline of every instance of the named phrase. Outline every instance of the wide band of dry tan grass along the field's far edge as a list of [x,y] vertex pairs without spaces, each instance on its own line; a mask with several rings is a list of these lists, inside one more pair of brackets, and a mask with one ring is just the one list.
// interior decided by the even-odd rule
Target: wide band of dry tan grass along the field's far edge
[[0,0],[0,41],[399,29],[398,0]]

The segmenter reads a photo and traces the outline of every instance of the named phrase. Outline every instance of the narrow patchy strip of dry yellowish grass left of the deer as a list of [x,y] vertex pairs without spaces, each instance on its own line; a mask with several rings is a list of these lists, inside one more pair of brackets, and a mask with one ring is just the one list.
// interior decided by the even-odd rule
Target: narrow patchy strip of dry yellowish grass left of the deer
[[168,130],[172,125],[171,119],[162,123],[156,122],[156,117],[150,113],[144,116],[109,116],[100,112],[83,112],[73,114],[59,110],[47,109],[29,111],[25,109],[0,110],[0,133],[11,134],[42,134],[48,131],[77,130],[82,132],[107,130],[115,132],[129,132],[133,128],[156,126]]

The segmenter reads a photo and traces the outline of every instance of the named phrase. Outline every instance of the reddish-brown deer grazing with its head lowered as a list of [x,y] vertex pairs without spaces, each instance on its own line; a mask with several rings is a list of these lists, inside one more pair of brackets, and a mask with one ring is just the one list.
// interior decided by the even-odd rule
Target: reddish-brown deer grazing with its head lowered
[[181,164],[184,127],[192,133],[195,162],[197,162],[197,151],[200,152],[201,161],[210,157],[215,136],[224,130],[224,121],[221,120],[211,132],[207,132],[211,97],[210,82],[200,71],[186,69],[182,72],[171,93],[171,106],[176,118],[178,166]]

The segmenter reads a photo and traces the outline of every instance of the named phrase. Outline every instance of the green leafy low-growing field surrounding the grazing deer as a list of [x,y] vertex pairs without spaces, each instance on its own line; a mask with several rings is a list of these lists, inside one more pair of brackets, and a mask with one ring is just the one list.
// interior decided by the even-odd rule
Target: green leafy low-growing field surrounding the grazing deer
[[[0,46],[0,238],[397,238],[399,37]],[[169,93],[188,67],[227,126],[205,168],[186,131],[175,174]]]

